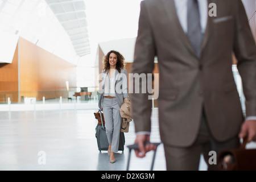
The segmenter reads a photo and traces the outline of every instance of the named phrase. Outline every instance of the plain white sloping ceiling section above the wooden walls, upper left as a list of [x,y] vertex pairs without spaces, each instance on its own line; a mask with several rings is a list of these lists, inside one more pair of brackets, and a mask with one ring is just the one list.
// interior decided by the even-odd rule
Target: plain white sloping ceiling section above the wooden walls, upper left
[[0,31],[24,38],[75,65],[82,58],[46,0],[0,0]]

